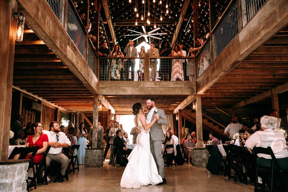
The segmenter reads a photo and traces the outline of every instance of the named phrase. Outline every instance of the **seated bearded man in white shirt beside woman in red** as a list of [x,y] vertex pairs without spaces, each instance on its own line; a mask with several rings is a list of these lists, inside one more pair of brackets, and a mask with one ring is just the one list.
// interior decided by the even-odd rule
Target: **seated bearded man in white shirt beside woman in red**
[[58,122],[51,122],[49,125],[49,132],[45,133],[48,136],[48,145],[51,146],[46,156],[46,167],[48,168],[51,161],[56,161],[61,164],[61,173],[58,178],[58,182],[63,182],[63,175],[65,175],[67,167],[69,165],[69,159],[62,153],[63,147],[71,145],[67,136],[60,131]]

